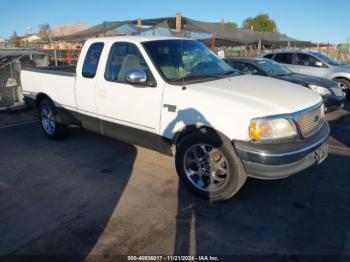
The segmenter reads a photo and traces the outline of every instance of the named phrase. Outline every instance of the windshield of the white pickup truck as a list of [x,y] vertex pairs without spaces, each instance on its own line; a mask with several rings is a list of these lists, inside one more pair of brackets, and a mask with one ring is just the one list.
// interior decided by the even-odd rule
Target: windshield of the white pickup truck
[[208,80],[238,74],[197,41],[158,40],[145,42],[143,46],[168,82]]

